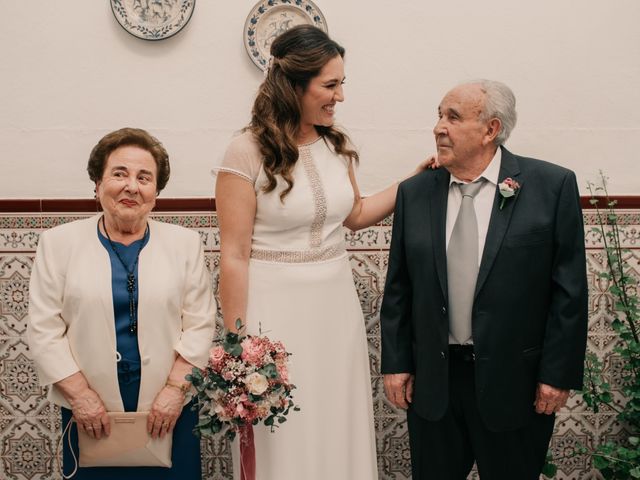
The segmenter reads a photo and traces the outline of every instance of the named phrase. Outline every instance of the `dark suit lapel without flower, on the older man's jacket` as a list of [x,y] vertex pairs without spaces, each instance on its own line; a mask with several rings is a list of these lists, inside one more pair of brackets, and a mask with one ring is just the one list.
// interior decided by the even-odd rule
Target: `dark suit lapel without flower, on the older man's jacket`
[[433,255],[436,263],[438,280],[444,298],[448,298],[447,289],[447,199],[449,195],[449,172],[444,168],[434,175],[434,191],[429,196],[431,200],[431,235],[433,241]]

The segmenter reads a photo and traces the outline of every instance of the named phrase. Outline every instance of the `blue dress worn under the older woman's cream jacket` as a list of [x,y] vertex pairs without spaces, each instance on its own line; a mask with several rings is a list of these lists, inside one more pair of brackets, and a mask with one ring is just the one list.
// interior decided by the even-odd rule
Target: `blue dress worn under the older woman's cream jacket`
[[[140,350],[138,338],[129,332],[129,292],[127,292],[127,271],[113,252],[109,240],[98,229],[98,236],[104,248],[109,252],[111,260],[111,286],[113,291],[113,311],[115,316],[116,344],[122,359],[118,362],[118,384],[120,395],[126,412],[135,412],[140,391]],[[149,231],[145,236],[131,245],[113,242],[122,260],[131,266],[136,255],[149,241]],[[136,289],[134,296],[138,301],[138,269],[134,271]],[[71,410],[62,408],[63,429],[71,420]],[[200,440],[193,434],[198,421],[198,414],[187,404],[176,422],[173,431],[173,447],[171,468],[163,467],[86,467],[78,468],[74,480],[200,480]],[[78,431],[71,428],[71,444],[78,457]],[[63,470],[65,475],[73,471],[74,460],[66,439],[63,442]]]

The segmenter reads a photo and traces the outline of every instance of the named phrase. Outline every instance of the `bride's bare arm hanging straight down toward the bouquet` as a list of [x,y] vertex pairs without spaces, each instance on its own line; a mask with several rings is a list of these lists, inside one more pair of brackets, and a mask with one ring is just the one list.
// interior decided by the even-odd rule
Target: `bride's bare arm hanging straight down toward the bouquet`
[[256,194],[245,178],[218,173],[216,210],[220,227],[220,306],[225,327],[236,330],[236,319],[246,324],[251,236],[256,216]]

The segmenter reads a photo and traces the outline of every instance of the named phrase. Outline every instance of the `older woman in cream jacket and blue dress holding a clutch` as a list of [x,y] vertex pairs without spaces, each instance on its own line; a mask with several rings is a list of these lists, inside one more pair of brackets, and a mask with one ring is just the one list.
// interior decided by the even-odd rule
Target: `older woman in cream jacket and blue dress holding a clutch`
[[207,362],[215,301],[199,236],[149,218],[170,169],[144,130],[106,135],[87,170],[103,213],[48,230],[38,244],[28,337],[40,381],[63,426],[73,417],[89,437],[111,433],[107,412],[131,411],[149,412],[151,437],[173,435],[172,468],[79,468],[76,478],[200,479],[185,375]]

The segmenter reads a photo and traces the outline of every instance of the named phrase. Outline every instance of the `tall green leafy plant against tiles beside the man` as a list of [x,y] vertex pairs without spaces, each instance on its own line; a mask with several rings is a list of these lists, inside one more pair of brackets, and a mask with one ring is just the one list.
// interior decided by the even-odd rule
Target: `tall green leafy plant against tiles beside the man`
[[[607,480],[640,479],[640,291],[636,287],[639,275],[629,262],[632,257],[626,252],[628,248],[622,246],[619,215],[615,210],[617,201],[609,197],[607,182],[608,178],[600,171],[600,184],[588,182],[587,189],[591,194],[589,203],[596,206],[597,226],[592,232],[604,242],[605,268],[594,275],[607,289],[606,314],[612,317],[611,327],[617,338],[605,358],[587,353],[582,397],[595,413],[599,405],[609,405],[623,429],[610,440],[592,438],[593,450],[583,448],[581,453],[591,455],[593,467]],[[600,197],[596,198],[596,194]],[[622,403],[614,402],[612,389],[625,397]],[[578,449],[576,452],[580,453]]]

